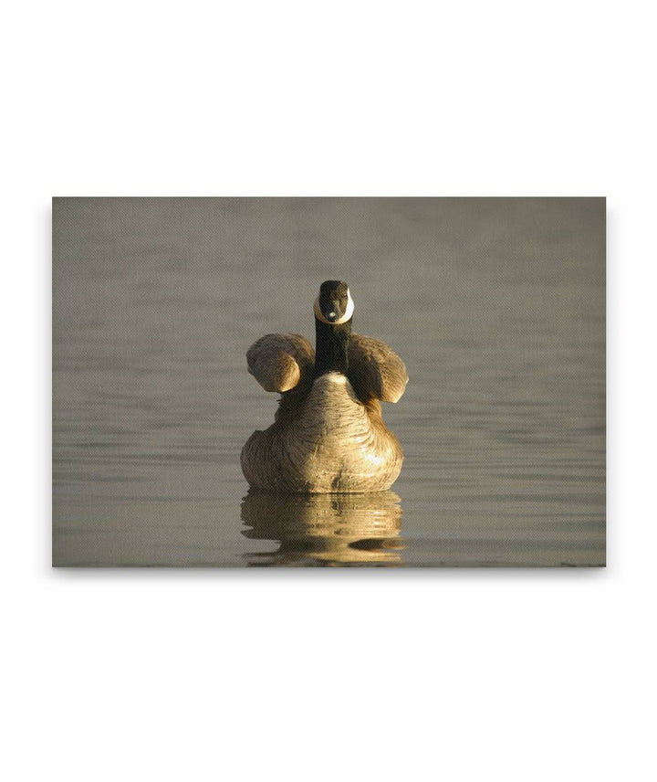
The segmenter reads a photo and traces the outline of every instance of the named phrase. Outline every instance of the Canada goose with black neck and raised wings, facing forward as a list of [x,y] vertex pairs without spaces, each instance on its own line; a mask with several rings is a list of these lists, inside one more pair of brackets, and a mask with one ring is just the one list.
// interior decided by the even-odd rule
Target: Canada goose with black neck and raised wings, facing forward
[[386,343],[351,333],[347,283],[322,282],[314,312],[315,351],[299,334],[266,334],[246,353],[251,375],[282,395],[274,424],[242,449],[246,481],[269,491],[389,489],[403,451],[380,400],[401,397],[406,367]]

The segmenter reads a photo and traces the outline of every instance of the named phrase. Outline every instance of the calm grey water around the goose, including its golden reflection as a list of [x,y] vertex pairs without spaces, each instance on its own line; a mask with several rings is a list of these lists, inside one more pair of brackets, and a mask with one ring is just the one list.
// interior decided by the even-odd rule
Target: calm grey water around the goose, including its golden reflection
[[[603,199],[98,199],[53,206],[55,565],[601,565]],[[270,332],[319,283],[411,382],[393,491],[248,492]]]

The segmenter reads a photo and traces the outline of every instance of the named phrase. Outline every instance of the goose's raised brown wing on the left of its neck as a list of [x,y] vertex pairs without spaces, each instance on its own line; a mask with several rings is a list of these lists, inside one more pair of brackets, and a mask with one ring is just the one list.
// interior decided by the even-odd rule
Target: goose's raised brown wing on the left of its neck
[[312,380],[315,351],[300,334],[266,334],[248,349],[246,363],[266,391],[285,393]]

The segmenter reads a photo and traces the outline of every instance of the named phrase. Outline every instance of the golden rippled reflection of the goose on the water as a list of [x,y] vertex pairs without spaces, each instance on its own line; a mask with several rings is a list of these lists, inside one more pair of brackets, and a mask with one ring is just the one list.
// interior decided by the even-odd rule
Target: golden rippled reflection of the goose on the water
[[276,494],[249,490],[242,534],[279,541],[271,553],[245,555],[249,565],[396,565],[401,563],[401,499],[371,494]]

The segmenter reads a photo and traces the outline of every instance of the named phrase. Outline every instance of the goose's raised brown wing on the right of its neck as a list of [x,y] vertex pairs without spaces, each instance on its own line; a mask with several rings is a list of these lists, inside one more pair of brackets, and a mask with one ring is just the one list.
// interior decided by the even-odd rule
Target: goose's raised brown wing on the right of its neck
[[351,334],[349,381],[360,399],[397,402],[408,379],[403,361],[390,345],[362,334]]

